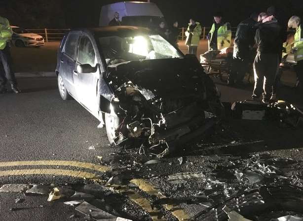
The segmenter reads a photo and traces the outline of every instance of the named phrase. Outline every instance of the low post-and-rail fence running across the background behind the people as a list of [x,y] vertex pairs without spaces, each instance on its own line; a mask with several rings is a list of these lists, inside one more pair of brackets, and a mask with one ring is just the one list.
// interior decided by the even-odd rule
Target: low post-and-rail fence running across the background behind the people
[[[180,40],[185,40],[186,35],[185,32],[187,28],[179,28],[180,29]],[[201,39],[206,39],[206,36],[211,28],[202,27]],[[236,33],[237,27],[231,27],[232,38]],[[70,29],[27,29],[29,32],[33,32],[41,35],[46,42],[48,41],[60,41],[66,32],[70,31]]]

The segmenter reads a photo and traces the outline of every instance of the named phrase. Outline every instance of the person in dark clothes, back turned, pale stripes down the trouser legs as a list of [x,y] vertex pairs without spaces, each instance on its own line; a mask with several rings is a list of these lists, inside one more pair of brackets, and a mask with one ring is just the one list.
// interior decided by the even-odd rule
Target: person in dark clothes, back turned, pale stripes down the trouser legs
[[279,64],[281,28],[277,20],[265,12],[259,14],[256,27],[257,56],[254,62],[255,87],[252,98],[260,97],[263,86],[262,102],[268,103]]

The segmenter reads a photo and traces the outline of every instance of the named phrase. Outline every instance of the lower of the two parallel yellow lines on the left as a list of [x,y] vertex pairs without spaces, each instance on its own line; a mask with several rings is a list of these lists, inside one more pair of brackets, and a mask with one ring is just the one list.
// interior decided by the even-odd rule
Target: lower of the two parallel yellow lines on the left
[[75,170],[61,170],[61,169],[25,169],[25,170],[2,170],[0,177],[3,176],[20,176],[20,175],[60,175],[69,177],[78,177],[85,179],[95,179],[100,181],[96,174]]

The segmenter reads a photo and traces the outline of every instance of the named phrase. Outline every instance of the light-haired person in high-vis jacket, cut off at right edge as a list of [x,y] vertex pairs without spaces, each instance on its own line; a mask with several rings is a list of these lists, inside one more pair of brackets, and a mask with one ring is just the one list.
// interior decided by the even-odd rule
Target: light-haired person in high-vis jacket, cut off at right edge
[[288,27],[296,29],[293,52],[297,62],[295,66],[299,83],[297,86],[303,94],[303,25],[301,22],[300,17],[292,16],[288,21]]

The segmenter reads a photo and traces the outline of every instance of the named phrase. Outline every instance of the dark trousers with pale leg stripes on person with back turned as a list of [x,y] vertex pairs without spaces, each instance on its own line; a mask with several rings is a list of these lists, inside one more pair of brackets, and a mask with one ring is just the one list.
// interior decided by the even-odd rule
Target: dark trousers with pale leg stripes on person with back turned
[[[254,62],[255,88],[253,95],[269,99],[279,65],[278,54],[257,54]],[[262,92],[263,91],[263,92]]]

